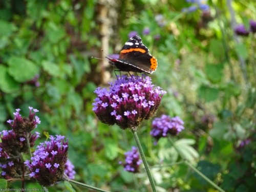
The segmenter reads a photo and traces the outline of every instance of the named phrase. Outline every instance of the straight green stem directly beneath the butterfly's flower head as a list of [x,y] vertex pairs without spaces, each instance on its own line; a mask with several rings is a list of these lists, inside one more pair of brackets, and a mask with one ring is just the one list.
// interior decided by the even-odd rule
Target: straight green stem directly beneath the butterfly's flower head
[[138,146],[138,149],[139,149],[140,156],[141,156],[141,159],[143,161],[144,167],[146,169],[147,177],[150,180],[150,184],[151,184],[152,190],[153,190],[153,192],[156,192],[155,183],[154,183],[153,177],[152,177],[152,175],[150,173],[150,168],[148,167],[148,164],[146,162],[146,158],[145,158],[145,155],[143,153],[143,150],[142,150],[142,147],[141,147],[140,140],[139,140],[139,137],[137,135],[137,132],[132,130],[132,133],[133,133],[134,139],[136,141],[136,144]]

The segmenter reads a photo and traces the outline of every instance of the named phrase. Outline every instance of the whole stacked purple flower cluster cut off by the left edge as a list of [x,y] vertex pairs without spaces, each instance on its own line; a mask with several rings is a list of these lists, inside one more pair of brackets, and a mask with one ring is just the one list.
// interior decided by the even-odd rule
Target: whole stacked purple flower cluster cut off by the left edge
[[38,110],[31,107],[29,107],[29,110],[29,118],[26,118],[19,114],[20,109],[16,109],[16,112],[13,113],[14,120],[7,121],[12,130],[0,132],[0,168],[2,169],[1,175],[5,179],[22,176],[24,172],[22,153],[27,153],[29,147],[33,147],[35,140],[39,137],[38,132],[31,133],[40,123],[39,118],[35,116]]

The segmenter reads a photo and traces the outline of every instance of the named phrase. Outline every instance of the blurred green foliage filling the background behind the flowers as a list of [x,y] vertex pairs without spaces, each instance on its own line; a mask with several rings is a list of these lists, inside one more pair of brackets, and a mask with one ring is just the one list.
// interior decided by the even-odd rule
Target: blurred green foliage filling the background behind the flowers
[[[255,34],[233,35],[225,1],[209,1],[208,12],[191,13],[182,12],[190,5],[186,1],[108,2],[0,2],[0,129],[9,128],[6,121],[15,109],[27,115],[27,107],[33,106],[40,111],[36,131],[69,138],[76,180],[111,191],[148,191],[143,169],[133,176],[118,164],[135,145],[132,134],[100,123],[92,111],[94,90],[106,85],[104,74],[111,71],[115,78],[110,66],[91,59],[102,47],[100,29],[107,23],[98,16],[104,7],[115,13],[106,18],[110,22],[106,32],[111,33],[107,52],[118,53],[127,35],[136,31],[158,59],[153,82],[167,91],[158,115],[184,120],[186,130],[175,138],[182,154],[225,191],[253,191]],[[249,19],[256,19],[253,0],[235,1],[232,6],[238,23],[248,26]],[[143,34],[146,27],[149,34]],[[215,191],[180,163],[167,140],[154,145],[150,130],[151,122],[144,122],[138,135],[158,191]],[[26,186],[40,187],[34,180]],[[18,188],[20,182],[8,187]],[[49,189],[65,188],[73,191],[63,182]]]

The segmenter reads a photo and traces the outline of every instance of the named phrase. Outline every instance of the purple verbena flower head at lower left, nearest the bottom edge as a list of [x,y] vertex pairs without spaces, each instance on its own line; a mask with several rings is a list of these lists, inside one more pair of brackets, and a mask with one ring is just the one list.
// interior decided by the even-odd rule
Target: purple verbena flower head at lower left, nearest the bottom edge
[[25,161],[30,170],[30,177],[34,177],[40,185],[49,186],[63,178],[68,155],[68,141],[65,136],[50,136],[37,146],[31,161]]

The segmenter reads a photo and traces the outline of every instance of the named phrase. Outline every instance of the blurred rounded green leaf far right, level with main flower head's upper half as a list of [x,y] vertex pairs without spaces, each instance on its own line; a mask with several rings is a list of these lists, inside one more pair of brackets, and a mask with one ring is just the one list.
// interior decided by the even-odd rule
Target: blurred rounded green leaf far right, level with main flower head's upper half
[[199,97],[206,102],[215,101],[219,96],[219,90],[207,86],[201,86],[198,91]]

